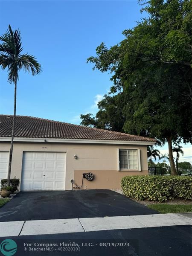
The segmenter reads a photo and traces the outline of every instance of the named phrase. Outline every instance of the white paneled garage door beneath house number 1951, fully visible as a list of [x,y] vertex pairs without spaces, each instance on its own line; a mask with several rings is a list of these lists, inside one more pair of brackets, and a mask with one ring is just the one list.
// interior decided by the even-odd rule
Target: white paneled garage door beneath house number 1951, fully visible
[[21,190],[65,189],[66,153],[24,152]]

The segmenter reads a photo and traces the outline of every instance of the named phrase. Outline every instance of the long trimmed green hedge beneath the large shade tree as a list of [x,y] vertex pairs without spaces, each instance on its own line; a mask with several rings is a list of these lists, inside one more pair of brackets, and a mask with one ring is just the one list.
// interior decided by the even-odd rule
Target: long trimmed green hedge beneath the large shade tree
[[136,200],[192,200],[192,177],[133,175],[121,180],[123,194]]

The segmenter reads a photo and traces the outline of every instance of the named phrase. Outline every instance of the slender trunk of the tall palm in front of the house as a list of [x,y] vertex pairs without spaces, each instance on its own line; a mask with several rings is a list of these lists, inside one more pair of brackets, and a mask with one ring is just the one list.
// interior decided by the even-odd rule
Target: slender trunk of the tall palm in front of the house
[[9,167],[8,167],[8,175],[7,175],[7,186],[10,185],[10,178],[11,178],[13,139],[14,139],[14,131],[15,131],[15,116],[16,116],[16,101],[17,101],[17,78],[15,77],[14,114],[13,114],[11,148],[10,148],[10,152],[9,152]]

